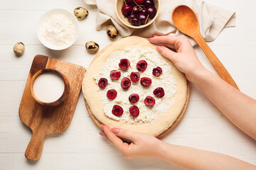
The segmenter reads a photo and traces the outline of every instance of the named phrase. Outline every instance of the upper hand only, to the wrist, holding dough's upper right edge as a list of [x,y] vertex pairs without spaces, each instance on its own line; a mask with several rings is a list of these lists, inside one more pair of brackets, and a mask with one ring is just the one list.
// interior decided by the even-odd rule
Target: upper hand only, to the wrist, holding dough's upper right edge
[[[189,81],[194,80],[197,73],[206,70],[196,56],[188,38],[174,36],[154,36],[149,42],[159,45],[156,50],[164,57],[174,62],[175,66],[186,75]],[[176,52],[169,48],[174,48]]]

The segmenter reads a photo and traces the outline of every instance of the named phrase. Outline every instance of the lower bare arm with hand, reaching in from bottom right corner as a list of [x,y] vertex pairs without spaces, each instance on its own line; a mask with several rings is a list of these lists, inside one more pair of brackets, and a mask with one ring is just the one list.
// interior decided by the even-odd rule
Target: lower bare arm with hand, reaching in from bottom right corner
[[[174,164],[181,169],[253,169],[252,164],[242,162],[239,159],[225,154],[208,152],[191,147],[167,144],[151,135],[131,132],[121,128],[108,128],[101,125],[100,135],[117,147],[127,159],[155,157]],[[120,138],[131,141],[130,144]],[[214,161],[213,161],[214,160]]]

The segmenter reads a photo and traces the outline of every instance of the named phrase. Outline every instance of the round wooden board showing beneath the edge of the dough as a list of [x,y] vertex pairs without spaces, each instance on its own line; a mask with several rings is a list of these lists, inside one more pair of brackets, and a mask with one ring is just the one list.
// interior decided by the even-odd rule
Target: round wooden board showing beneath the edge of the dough
[[[100,57],[100,55],[102,55],[103,52],[105,52],[105,50],[107,50],[109,47],[111,47],[112,44],[110,45],[107,45],[107,47],[105,47],[103,50],[101,50],[96,56],[95,58],[92,60],[92,62],[94,62],[96,60],[97,57]],[[90,64],[92,64],[92,62]],[[160,135],[158,135],[157,137],[160,138],[160,137],[163,137],[164,135],[166,135],[167,133],[171,132],[171,130],[173,130],[176,125],[178,125],[178,123],[181,121],[181,119],[183,118],[183,115],[185,114],[186,112],[186,109],[188,108],[188,101],[189,101],[189,98],[190,98],[190,86],[189,86],[189,83],[187,81],[187,95],[186,95],[186,102],[184,104],[184,107],[181,111],[181,113],[178,115],[178,118],[174,121],[174,123],[171,125],[170,128],[168,128],[166,131],[162,132]],[[85,97],[84,97],[85,99]],[[85,99],[85,106],[87,108],[87,111],[90,115],[90,117],[92,118],[93,122],[97,125],[98,128],[100,128],[100,125],[102,125],[102,123],[97,120],[97,118],[95,118],[95,116],[92,114],[92,111],[90,111],[90,107],[88,106],[87,104],[87,101]]]

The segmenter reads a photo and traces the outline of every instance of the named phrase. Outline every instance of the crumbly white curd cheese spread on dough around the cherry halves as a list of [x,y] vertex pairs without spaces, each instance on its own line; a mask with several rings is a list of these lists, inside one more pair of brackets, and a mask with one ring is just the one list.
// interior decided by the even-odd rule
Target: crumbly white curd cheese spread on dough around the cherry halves
[[[127,59],[131,63],[127,71],[119,68],[119,62],[121,59]],[[145,60],[147,67],[144,72],[139,72],[137,69],[137,62],[139,60]],[[152,74],[152,70],[156,67],[161,67],[163,73],[159,77],[155,77]],[[118,80],[112,81],[110,79],[110,72],[112,70],[118,70],[121,72],[121,77]],[[121,87],[121,80],[124,77],[130,78],[131,72],[139,72],[140,77],[149,77],[152,80],[152,84],[149,87],[144,87],[140,84],[132,82],[132,85],[127,91],[124,91]],[[176,94],[176,81],[171,74],[171,65],[162,59],[161,55],[155,50],[142,47],[127,47],[123,51],[115,52],[108,57],[105,67],[102,68],[99,74],[94,76],[95,83],[97,84],[100,78],[107,79],[107,86],[105,89],[98,89],[103,103],[103,110],[107,117],[114,120],[124,120],[127,123],[139,124],[139,123],[151,123],[156,117],[165,113],[174,104],[174,94]],[[164,89],[164,97],[157,98],[154,96],[153,91],[157,87]],[[113,100],[107,98],[107,91],[115,89],[117,91],[117,97]],[[129,95],[138,94],[139,101],[137,103],[129,102]],[[144,99],[146,96],[152,96],[155,98],[156,103],[153,107],[146,106]],[[123,108],[124,113],[122,116],[117,117],[112,114],[112,108],[114,105],[119,105]],[[132,117],[129,113],[129,107],[136,105],[139,108],[139,116],[137,118]]]

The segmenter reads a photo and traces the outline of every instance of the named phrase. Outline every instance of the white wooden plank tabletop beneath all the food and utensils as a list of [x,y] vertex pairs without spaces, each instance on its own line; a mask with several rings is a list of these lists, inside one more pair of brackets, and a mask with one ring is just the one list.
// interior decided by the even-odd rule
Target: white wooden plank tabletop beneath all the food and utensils
[[[207,1],[236,11],[237,26],[224,29],[217,40],[208,44],[240,90],[256,98],[256,1]],[[75,45],[64,51],[48,50],[41,45],[36,36],[38,18],[51,8],[73,12],[78,6],[85,6],[89,16],[79,21],[80,37]],[[94,40],[100,49],[112,42],[105,31],[95,30],[96,12],[95,6],[86,6],[82,0],[0,1],[0,169],[178,169],[158,159],[124,159],[98,135],[100,130],[90,119],[81,94],[68,130],[46,137],[38,162],[24,157],[31,130],[18,118],[18,106],[33,57],[46,55],[87,68],[95,55],[86,52],[85,42]],[[26,45],[21,57],[13,52],[18,41]],[[201,49],[195,49],[201,62],[214,72]],[[193,84],[183,120],[163,140],[256,164],[256,142],[230,123]]]

